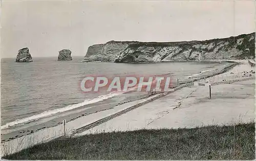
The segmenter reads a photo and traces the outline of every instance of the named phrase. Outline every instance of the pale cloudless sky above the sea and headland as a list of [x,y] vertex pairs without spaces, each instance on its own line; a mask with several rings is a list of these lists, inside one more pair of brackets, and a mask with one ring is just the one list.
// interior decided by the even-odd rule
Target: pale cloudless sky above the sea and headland
[[255,32],[254,1],[2,1],[1,57],[116,41],[189,41]]

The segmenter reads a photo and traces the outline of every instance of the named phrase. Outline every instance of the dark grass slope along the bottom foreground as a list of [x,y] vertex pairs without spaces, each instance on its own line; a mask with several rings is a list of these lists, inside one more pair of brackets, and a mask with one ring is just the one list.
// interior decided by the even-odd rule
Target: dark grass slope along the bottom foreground
[[255,123],[194,129],[84,135],[5,156],[6,159],[255,159]]

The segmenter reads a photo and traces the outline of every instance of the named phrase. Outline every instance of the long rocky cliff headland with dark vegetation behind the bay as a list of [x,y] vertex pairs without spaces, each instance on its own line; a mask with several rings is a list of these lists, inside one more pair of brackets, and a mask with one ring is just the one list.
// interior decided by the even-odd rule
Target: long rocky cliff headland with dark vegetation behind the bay
[[110,41],[88,48],[86,61],[159,62],[255,58],[255,32],[204,41]]

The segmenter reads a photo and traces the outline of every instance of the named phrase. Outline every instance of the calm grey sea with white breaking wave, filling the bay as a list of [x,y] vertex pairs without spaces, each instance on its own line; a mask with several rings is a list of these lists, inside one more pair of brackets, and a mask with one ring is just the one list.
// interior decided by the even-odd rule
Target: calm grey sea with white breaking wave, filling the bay
[[[139,92],[84,93],[80,88],[80,81],[88,75],[169,75],[174,80],[183,80],[191,75],[225,66],[225,63],[220,62],[131,64],[82,60],[83,57],[75,56],[72,61],[58,61],[56,57],[34,57],[33,62],[20,63],[15,62],[15,58],[3,58],[1,129],[15,131],[39,124],[50,127],[56,125],[56,121],[51,122],[56,116],[72,115],[75,119],[78,113],[87,108],[105,110],[129,98],[136,100],[146,95]],[[47,122],[51,124],[46,124]]]

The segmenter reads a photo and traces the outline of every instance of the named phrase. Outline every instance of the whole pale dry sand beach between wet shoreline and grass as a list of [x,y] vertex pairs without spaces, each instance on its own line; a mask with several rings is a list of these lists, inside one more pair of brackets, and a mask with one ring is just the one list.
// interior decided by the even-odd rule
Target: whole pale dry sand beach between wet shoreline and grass
[[[144,128],[191,128],[254,121],[255,77],[254,74],[251,77],[242,77],[241,74],[244,71],[254,71],[254,68],[246,61],[239,63],[226,73],[208,78],[212,84],[211,99],[208,98],[208,86],[183,84],[183,88],[177,87],[169,94],[157,94],[81,116],[66,124],[66,134],[71,135],[76,129],[86,130],[80,130],[74,136]],[[205,80],[201,79],[199,82],[204,83]],[[118,112],[120,114],[114,116]],[[2,154],[7,151],[16,152],[62,135],[62,124],[40,129],[30,135],[2,143]]]

